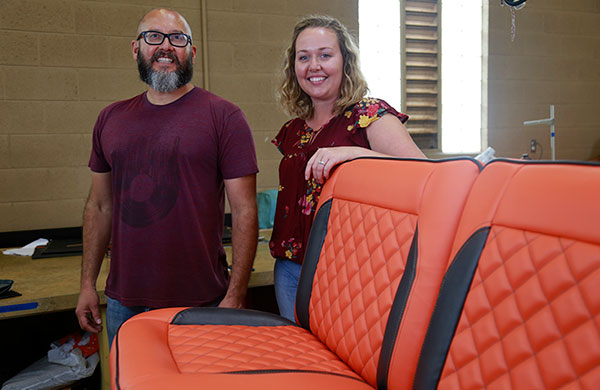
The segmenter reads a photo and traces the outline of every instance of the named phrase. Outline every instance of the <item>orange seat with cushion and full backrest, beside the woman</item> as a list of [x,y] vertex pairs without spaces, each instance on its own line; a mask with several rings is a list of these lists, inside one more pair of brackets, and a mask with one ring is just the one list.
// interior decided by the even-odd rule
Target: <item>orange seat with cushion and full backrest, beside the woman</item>
[[135,316],[113,342],[113,388],[406,388],[480,168],[472,159],[342,164],[311,230],[299,324],[219,308]]

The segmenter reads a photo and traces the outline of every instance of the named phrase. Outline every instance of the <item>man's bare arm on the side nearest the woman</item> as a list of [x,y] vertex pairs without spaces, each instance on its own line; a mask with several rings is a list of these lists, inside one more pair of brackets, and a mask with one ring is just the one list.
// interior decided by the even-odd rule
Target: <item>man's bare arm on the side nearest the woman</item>
[[232,221],[231,280],[220,307],[242,307],[256,255],[258,212],[256,175],[225,180]]

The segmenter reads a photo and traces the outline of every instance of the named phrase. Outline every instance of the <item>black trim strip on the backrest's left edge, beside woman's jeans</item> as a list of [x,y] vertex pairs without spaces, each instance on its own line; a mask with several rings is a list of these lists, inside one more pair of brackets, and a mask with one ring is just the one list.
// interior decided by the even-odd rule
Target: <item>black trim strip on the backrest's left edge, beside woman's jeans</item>
[[312,296],[312,283],[317,271],[317,264],[321,255],[321,249],[327,235],[327,222],[331,213],[332,200],[329,199],[319,208],[315,220],[308,235],[304,262],[300,271],[298,281],[298,292],[296,293],[296,318],[298,324],[310,331],[309,303]]

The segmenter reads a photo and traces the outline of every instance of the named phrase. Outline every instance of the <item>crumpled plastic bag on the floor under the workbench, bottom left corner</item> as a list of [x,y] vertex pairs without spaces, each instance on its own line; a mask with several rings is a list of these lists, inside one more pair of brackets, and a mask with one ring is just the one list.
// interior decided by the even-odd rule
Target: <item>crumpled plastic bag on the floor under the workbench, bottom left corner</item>
[[100,356],[98,336],[72,334],[50,345],[48,355],[4,382],[2,390],[52,390],[94,373]]

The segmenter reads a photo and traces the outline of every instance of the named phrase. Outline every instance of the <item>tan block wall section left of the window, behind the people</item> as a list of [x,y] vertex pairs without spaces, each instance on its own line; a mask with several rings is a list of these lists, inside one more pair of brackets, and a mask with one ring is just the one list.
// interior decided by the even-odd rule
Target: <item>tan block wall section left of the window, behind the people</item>
[[[130,42],[155,7],[181,12],[202,42],[202,0],[0,1],[0,232],[81,226],[91,134],[100,110],[145,89]],[[276,101],[296,20],[340,18],[358,32],[356,0],[205,0],[208,89],[245,112],[258,190],[277,187],[269,142],[287,118]],[[203,85],[202,51],[194,83]]]

